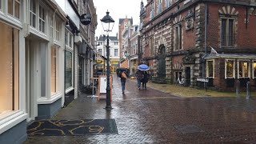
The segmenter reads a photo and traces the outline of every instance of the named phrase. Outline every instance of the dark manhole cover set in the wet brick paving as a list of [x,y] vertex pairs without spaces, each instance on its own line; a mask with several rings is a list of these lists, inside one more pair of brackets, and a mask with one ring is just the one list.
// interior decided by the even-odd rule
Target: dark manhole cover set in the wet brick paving
[[177,129],[182,134],[193,134],[193,133],[201,133],[201,130],[198,126],[194,125],[174,125],[174,128]]

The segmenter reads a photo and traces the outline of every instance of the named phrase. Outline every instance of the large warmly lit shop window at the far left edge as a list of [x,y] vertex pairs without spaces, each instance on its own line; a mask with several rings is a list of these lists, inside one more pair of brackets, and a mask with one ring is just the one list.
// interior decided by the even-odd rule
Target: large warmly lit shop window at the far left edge
[[0,119],[19,106],[19,31],[0,22]]

